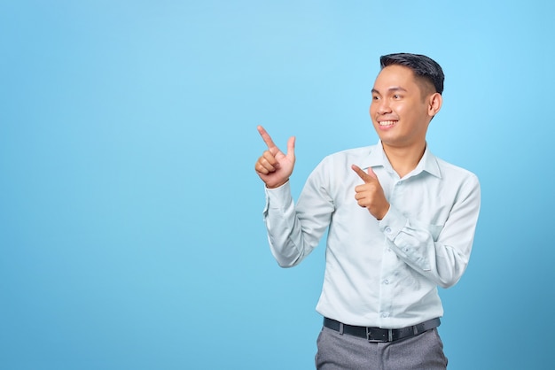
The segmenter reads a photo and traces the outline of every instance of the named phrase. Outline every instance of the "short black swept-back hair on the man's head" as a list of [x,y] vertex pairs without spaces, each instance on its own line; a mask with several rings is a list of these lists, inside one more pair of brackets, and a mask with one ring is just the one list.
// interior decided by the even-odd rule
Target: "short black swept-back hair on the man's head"
[[416,76],[431,82],[435,92],[440,94],[443,92],[445,75],[442,66],[432,58],[421,54],[396,53],[379,57],[379,64],[382,69],[392,65],[409,67]]

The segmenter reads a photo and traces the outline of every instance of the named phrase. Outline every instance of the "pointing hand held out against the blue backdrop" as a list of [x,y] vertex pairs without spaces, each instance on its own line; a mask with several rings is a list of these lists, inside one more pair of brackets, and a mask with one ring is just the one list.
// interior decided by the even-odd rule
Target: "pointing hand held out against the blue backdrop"
[[271,140],[270,135],[264,127],[259,126],[258,132],[262,136],[262,140],[268,146],[268,150],[264,150],[262,157],[258,158],[254,165],[254,170],[267,188],[278,188],[289,180],[289,176],[293,173],[295,165],[295,138],[290,137],[287,141],[287,153],[277,148],[276,144]]

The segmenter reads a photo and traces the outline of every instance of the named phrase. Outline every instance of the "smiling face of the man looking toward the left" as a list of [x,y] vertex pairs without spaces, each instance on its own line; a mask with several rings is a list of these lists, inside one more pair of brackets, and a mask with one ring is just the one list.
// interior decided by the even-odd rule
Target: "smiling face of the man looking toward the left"
[[410,148],[426,143],[433,93],[408,67],[381,70],[372,89],[370,116],[384,146]]

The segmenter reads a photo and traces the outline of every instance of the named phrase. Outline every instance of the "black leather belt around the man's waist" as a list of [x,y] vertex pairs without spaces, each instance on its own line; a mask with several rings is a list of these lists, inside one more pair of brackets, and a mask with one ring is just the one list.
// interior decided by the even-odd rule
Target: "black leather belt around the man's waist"
[[324,327],[339,331],[340,334],[348,334],[358,336],[368,340],[368,342],[394,342],[399,339],[408,338],[422,334],[433,328],[440,326],[442,322],[439,318],[424,321],[412,327],[400,329],[382,329],[382,328],[368,328],[356,327],[353,325],[343,324],[340,321],[324,318]]

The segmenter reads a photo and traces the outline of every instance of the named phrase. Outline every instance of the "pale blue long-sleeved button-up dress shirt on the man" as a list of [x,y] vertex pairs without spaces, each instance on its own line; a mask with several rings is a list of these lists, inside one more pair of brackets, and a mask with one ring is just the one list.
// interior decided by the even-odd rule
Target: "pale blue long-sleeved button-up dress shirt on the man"
[[[391,204],[376,220],[355,199],[363,183],[351,169],[372,167]],[[480,211],[475,174],[426,149],[403,178],[381,143],[326,158],[309,175],[297,204],[289,182],[266,189],[264,220],[280,266],[295,266],[327,227],[324,284],[317,312],[343,323],[404,328],[441,317],[437,286],[465,272]]]

